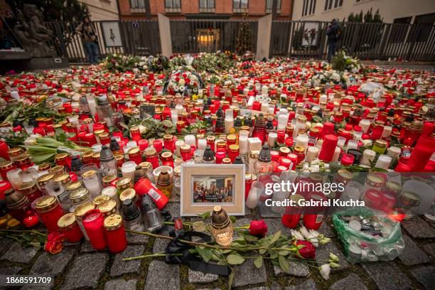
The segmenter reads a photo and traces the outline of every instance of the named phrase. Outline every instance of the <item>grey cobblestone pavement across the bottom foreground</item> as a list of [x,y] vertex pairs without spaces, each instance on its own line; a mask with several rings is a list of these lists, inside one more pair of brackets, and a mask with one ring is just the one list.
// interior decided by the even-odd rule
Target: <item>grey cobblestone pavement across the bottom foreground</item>
[[[169,205],[171,212],[178,210],[179,203],[171,202]],[[269,225],[269,234],[278,230],[289,232],[281,225],[281,219],[267,208],[255,211],[247,209],[247,213],[244,218],[237,220],[238,225],[246,225],[254,218],[264,218]],[[235,269],[233,289],[434,289],[434,224],[418,217],[403,222],[404,253],[394,261],[371,264],[351,264],[345,260],[343,247],[335,237],[330,220],[323,223],[320,232],[331,237],[332,242],[318,248],[318,258],[326,257],[329,251],[340,257],[340,267],[334,269],[328,281],[323,280],[316,269],[301,263],[292,263],[290,274],[285,274],[268,262],[260,269],[245,262]],[[141,235],[129,235],[128,241],[127,249],[120,254],[96,252],[89,242],[82,242],[80,245],[67,245],[60,254],[51,255],[42,250],[21,249],[13,240],[0,240],[0,274],[53,274],[53,288],[67,290],[227,289],[225,276],[195,272],[186,266],[168,265],[161,259],[123,262],[123,257],[159,252],[166,246],[166,241]]]

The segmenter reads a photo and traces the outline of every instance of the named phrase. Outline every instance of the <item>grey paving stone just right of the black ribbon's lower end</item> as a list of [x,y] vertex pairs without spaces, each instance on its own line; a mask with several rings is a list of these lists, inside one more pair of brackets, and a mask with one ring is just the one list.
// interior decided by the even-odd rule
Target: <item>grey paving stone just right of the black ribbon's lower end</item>
[[266,268],[264,264],[261,268],[254,266],[254,259],[248,259],[245,263],[234,268],[235,276],[233,285],[245,286],[250,284],[260,284],[266,282]]

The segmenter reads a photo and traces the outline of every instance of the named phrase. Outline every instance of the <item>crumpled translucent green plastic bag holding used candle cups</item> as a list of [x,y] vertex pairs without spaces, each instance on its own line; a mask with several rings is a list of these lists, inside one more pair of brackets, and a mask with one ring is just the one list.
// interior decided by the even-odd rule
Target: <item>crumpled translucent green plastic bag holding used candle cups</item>
[[[363,231],[354,230],[348,225],[348,222],[340,218],[340,216],[355,215],[367,218],[374,217],[380,224],[381,232],[389,232],[389,234],[385,237],[375,237]],[[385,213],[369,208],[343,210],[333,215],[333,224],[343,243],[345,255],[350,262],[389,261],[402,254],[404,250],[400,222],[391,220]]]

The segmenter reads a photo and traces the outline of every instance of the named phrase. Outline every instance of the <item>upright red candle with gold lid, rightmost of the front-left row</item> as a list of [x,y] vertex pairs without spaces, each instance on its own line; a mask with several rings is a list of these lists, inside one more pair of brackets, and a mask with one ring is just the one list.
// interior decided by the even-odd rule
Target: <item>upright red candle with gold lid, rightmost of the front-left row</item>
[[127,237],[121,215],[109,215],[104,219],[104,235],[109,252],[115,254],[124,251],[127,247]]

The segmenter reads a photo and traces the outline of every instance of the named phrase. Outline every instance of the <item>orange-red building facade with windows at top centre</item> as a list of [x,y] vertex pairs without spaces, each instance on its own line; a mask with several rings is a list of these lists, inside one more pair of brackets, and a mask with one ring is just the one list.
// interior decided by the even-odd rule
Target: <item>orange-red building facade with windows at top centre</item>
[[[122,20],[157,18],[259,18],[272,13],[273,0],[118,0]],[[291,19],[294,0],[276,0],[276,19]]]

